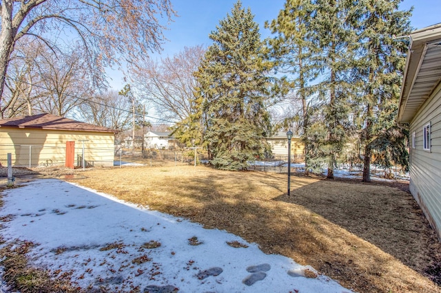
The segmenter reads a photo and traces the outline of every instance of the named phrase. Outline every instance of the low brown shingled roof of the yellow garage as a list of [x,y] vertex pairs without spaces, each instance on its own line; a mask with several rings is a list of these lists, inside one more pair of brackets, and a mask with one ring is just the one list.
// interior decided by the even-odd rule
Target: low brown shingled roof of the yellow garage
[[112,132],[118,131],[107,127],[79,122],[76,120],[55,116],[50,113],[43,113],[33,116],[15,117],[0,120],[0,128],[13,127],[20,129],[45,129],[63,131],[90,131],[90,132]]

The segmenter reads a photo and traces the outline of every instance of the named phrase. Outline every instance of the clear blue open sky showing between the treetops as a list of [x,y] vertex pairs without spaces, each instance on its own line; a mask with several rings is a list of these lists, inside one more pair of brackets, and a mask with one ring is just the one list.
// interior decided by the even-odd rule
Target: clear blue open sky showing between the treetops
[[[164,58],[181,52],[184,47],[210,45],[209,33],[216,30],[216,25],[230,13],[236,0],[172,0],[178,17],[168,25],[164,32],[168,41],[163,44],[161,54],[152,54],[152,58]],[[259,24],[263,38],[270,36],[265,29],[265,21],[275,19],[283,9],[285,0],[242,0],[245,8],[250,8],[254,21]],[[441,23],[441,0],[404,0],[400,8],[408,10],[413,6],[411,25],[415,29]],[[120,90],[125,84],[120,72],[109,72],[109,80],[113,89]]]

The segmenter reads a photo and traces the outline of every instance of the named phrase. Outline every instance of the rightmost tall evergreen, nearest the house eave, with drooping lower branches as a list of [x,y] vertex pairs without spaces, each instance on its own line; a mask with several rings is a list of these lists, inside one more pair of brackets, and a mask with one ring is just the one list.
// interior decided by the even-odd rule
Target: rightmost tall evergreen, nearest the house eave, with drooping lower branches
[[[371,156],[389,166],[391,160],[407,166],[406,135],[396,129],[400,84],[407,44],[393,36],[409,34],[410,11],[400,11],[402,0],[361,1],[362,10],[354,19],[360,30],[360,57],[355,81],[360,85],[360,142],[364,147],[363,179],[370,182]],[[378,161],[377,160],[377,161]]]

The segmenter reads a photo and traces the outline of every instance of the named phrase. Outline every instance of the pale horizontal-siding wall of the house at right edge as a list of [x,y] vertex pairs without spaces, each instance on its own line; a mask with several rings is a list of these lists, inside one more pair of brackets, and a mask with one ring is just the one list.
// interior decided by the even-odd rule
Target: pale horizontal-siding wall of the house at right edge
[[[423,128],[431,123],[431,150],[423,149]],[[416,147],[412,147],[413,131]],[[441,239],[441,83],[424,102],[409,128],[410,191]]]

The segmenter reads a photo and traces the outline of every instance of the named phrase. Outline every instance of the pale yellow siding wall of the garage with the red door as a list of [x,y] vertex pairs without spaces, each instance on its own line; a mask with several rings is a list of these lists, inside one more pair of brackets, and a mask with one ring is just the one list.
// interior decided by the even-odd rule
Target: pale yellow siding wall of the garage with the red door
[[12,153],[14,166],[64,165],[67,141],[75,142],[75,161],[82,162],[83,142],[87,166],[113,166],[114,133],[0,128],[0,162]]

